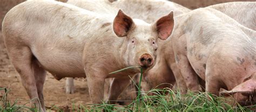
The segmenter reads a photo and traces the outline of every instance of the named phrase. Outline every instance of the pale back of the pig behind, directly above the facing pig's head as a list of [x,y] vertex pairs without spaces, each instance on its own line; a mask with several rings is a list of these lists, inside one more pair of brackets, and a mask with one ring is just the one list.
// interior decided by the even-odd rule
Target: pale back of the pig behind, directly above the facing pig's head
[[171,11],[174,11],[174,16],[189,12],[190,10],[173,2],[169,1],[116,1],[112,6],[122,9],[132,18],[145,20],[147,23],[153,23],[157,19]]

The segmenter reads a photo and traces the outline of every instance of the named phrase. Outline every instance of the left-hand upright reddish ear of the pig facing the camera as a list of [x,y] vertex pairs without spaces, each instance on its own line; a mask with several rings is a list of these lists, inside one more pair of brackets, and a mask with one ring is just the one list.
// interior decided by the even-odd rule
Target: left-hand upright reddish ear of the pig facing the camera
[[133,25],[132,18],[127,16],[122,10],[119,10],[113,21],[113,30],[117,36],[126,36]]

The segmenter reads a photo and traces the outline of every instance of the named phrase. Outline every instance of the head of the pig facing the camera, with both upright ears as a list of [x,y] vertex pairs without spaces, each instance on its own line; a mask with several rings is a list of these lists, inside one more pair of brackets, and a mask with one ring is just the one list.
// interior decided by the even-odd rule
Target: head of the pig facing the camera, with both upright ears
[[173,12],[161,17],[154,24],[147,24],[143,20],[132,19],[119,10],[113,21],[113,31],[117,36],[125,38],[121,56],[126,66],[152,68],[156,60],[157,40],[166,40],[173,25]]

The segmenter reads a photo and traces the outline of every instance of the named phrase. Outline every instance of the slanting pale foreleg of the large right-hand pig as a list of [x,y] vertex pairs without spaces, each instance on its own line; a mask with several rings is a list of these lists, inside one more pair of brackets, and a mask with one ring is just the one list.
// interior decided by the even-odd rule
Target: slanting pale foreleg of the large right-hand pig
[[190,91],[201,91],[197,74],[194,72],[187,57],[184,55],[175,55],[175,59],[187,88]]

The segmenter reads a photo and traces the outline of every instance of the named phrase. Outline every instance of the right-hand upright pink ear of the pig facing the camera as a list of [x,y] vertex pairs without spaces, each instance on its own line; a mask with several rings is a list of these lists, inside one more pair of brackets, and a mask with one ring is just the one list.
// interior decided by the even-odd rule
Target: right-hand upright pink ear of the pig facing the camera
[[158,38],[166,40],[171,35],[174,26],[173,12],[171,11],[168,15],[158,19],[155,26]]

